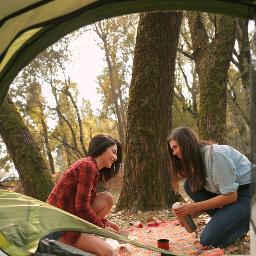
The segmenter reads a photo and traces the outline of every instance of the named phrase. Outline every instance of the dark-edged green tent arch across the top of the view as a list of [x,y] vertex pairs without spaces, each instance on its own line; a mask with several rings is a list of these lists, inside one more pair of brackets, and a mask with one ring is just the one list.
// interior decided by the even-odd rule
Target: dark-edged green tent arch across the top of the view
[[108,17],[195,10],[253,19],[253,0],[0,0],[0,108],[9,84],[33,58],[64,35]]

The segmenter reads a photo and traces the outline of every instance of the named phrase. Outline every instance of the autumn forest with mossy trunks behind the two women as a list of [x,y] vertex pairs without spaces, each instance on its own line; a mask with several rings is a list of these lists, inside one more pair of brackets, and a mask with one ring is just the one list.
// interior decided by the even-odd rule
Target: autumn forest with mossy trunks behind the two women
[[[182,200],[166,154],[171,128],[187,125],[250,159],[249,25],[224,15],[158,12],[102,20],[62,38],[10,87],[0,112],[1,175],[17,169],[24,193],[45,201],[55,185],[50,174],[86,157],[95,134],[109,133],[125,148],[116,209],[136,212]],[[95,96],[85,97],[86,76],[78,84],[70,71],[73,43],[88,33],[105,64],[96,75],[96,110]]]

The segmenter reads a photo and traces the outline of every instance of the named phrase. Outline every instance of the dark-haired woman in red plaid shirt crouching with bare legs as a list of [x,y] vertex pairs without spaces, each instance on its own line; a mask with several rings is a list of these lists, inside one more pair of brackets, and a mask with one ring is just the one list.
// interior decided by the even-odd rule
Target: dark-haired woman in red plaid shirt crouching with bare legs
[[[109,134],[97,134],[90,141],[88,157],[73,163],[52,190],[47,203],[70,212],[99,227],[118,233],[119,226],[105,216],[113,207],[109,192],[97,194],[99,181],[116,177],[122,163],[122,144]],[[98,237],[78,232],[54,232],[47,236],[97,256],[112,256],[113,249]]]

